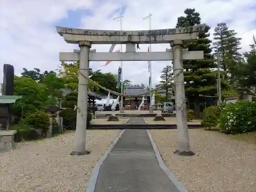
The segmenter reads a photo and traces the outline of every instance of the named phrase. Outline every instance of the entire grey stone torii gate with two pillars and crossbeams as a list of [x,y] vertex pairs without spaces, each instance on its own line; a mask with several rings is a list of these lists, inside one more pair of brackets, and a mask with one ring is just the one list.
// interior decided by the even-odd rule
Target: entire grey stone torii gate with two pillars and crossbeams
[[[56,29],[66,42],[78,44],[80,47],[80,51],[59,53],[59,60],[80,61],[79,71],[85,77],[89,76],[89,61],[173,60],[179,140],[179,148],[176,153],[194,155],[189,148],[182,60],[203,59],[203,51],[183,50],[183,43],[196,40],[198,33],[204,31],[205,24],[146,31],[88,30],[64,27],[56,27]],[[126,44],[126,51],[122,53],[97,53],[96,50],[90,50],[92,44]],[[170,44],[172,49],[166,49],[166,52],[136,52],[136,44]],[[89,153],[86,151],[88,78],[84,78],[80,73],[75,147],[71,155]]]

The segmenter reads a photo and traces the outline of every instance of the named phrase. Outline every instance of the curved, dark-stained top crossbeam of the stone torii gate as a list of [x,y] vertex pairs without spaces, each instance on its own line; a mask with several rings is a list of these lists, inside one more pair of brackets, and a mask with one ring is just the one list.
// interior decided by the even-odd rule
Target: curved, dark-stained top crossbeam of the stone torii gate
[[143,31],[110,31],[56,27],[60,36],[69,44],[79,41],[90,41],[91,44],[168,44],[175,39],[191,41],[197,39],[200,31],[204,31],[206,24],[158,30]]

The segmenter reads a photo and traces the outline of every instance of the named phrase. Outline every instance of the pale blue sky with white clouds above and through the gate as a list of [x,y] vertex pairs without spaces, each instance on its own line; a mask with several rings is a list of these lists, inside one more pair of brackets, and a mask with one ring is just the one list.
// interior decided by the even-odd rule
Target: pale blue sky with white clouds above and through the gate
[[[249,49],[252,35],[256,34],[255,0],[0,0],[0,82],[4,63],[13,65],[17,75],[23,68],[55,70],[60,63],[59,52],[78,49],[67,44],[55,26],[119,30],[120,23],[113,18],[124,14],[124,30],[147,30],[149,20],[142,18],[152,13],[153,29],[166,29],[176,26],[177,17],[184,15],[186,8],[195,8],[200,13],[202,23],[211,27],[211,34],[217,23],[226,22],[243,38],[242,51]],[[140,47],[142,51],[147,49],[147,45]],[[107,52],[110,45],[92,48]],[[152,51],[166,48],[169,45],[152,45]],[[91,62],[90,67],[117,73],[120,62],[100,67],[103,63]],[[152,62],[153,84],[158,83],[162,68],[169,63]],[[147,62],[123,62],[123,79],[147,84]]]

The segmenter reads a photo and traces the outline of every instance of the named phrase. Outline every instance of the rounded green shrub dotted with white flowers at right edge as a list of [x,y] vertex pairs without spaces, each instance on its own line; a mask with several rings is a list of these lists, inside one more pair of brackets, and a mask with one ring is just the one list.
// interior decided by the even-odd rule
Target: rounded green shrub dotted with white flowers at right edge
[[226,134],[256,131],[256,102],[238,101],[227,104],[220,116],[220,128]]

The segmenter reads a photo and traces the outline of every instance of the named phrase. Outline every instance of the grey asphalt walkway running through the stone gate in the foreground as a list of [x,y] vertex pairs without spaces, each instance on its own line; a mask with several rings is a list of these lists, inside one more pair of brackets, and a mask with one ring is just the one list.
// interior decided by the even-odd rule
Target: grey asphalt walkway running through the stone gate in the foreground
[[159,166],[146,130],[125,130],[100,166],[94,192],[178,192]]

